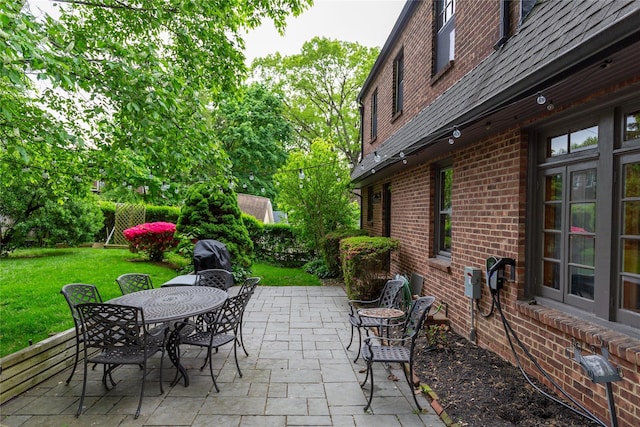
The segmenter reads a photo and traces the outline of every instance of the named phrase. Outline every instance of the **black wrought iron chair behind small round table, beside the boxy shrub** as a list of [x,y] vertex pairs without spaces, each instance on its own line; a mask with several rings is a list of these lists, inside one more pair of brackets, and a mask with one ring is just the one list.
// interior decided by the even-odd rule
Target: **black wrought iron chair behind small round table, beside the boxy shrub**
[[358,314],[358,310],[362,308],[372,307],[397,308],[399,310],[402,310],[404,308],[404,297],[401,292],[403,287],[404,281],[402,279],[393,279],[385,283],[380,296],[375,300],[349,300],[349,323],[351,323],[351,337],[349,338],[349,345],[347,345],[347,350],[353,343],[353,330],[356,329],[358,331],[358,354],[353,360],[354,363],[358,361],[358,358],[360,358],[360,347],[362,345],[361,329],[364,329],[366,335],[369,336],[370,328],[377,328],[379,331],[381,331],[382,328],[387,324],[387,320],[385,319],[375,319],[371,317],[360,316]]

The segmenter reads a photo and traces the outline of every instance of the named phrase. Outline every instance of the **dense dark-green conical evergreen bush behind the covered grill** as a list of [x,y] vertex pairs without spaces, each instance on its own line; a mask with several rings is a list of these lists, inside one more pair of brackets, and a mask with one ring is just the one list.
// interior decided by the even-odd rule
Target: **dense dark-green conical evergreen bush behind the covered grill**
[[251,273],[253,243],[242,220],[235,191],[223,183],[222,178],[220,181],[198,183],[187,191],[176,225],[182,236],[178,250],[191,257],[196,240],[215,239],[224,243],[237,281]]

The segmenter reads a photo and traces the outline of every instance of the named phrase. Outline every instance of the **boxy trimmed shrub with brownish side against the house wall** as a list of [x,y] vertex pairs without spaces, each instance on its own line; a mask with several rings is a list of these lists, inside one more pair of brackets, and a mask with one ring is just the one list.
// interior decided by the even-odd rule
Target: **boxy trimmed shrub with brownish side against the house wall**
[[390,277],[390,255],[400,247],[389,237],[348,237],[340,241],[342,274],[350,299],[375,299]]

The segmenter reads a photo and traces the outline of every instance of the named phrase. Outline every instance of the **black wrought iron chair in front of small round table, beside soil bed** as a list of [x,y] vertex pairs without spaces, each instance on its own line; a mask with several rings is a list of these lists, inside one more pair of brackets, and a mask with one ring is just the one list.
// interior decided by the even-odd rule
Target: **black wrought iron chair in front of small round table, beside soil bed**
[[387,345],[374,345],[373,340],[376,337],[367,337],[362,344],[362,358],[367,362],[367,375],[364,378],[361,387],[364,387],[367,383],[367,379],[371,378],[371,390],[369,392],[369,401],[367,406],[364,407],[365,412],[371,406],[371,400],[373,400],[373,364],[374,362],[382,363],[400,363],[409,365],[409,372],[404,366],[402,366],[402,372],[407,380],[407,384],[411,389],[413,400],[416,402],[416,406],[419,411],[422,411],[422,407],[418,403],[415,390],[412,384],[413,378],[413,358],[416,345],[416,339],[422,330],[424,321],[429,314],[429,310],[435,301],[435,297],[427,296],[418,298],[413,302],[411,311],[407,315],[402,328],[401,338],[385,338]]

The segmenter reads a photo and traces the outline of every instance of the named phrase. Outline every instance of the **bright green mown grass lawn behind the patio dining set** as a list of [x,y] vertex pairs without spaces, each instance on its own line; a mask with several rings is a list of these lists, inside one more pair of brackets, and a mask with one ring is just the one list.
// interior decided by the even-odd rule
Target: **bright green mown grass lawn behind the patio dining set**
[[[63,285],[96,285],[106,301],[120,295],[115,279],[124,273],[147,273],[154,286],[177,275],[170,265],[145,261],[126,249],[22,250],[0,259],[0,357],[73,327],[60,294]],[[255,264],[253,275],[267,286],[320,284],[301,269],[264,264]]]

